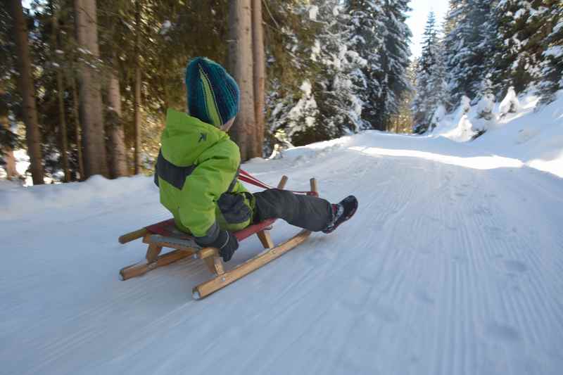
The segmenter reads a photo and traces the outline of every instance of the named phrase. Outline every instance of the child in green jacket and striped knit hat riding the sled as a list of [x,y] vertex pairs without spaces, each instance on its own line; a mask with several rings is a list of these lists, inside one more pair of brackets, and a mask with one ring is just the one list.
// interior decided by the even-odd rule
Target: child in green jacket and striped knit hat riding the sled
[[232,231],[281,218],[330,233],[358,208],[354,196],[339,204],[269,189],[249,193],[237,180],[241,155],[227,131],[239,111],[239,87],[221,65],[195,58],[186,68],[189,115],[169,109],[156,163],[160,203],[179,229],[202,247],[219,249],[225,262],[239,248]]

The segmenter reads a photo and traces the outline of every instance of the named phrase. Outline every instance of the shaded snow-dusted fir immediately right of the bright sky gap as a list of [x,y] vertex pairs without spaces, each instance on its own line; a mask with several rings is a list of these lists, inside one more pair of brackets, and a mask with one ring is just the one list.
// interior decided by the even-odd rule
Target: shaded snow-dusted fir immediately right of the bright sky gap
[[496,0],[450,0],[446,16],[445,67],[452,110],[463,95],[479,100],[483,77],[491,71],[496,25],[491,9]]

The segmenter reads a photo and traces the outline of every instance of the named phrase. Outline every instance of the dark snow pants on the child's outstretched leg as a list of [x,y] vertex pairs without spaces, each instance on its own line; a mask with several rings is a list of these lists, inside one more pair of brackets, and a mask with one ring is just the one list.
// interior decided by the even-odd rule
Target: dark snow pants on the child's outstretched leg
[[332,219],[331,204],[316,196],[303,196],[279,189],[260,191],[253,196],[254,222],[276,218],[310,231],[322,231]]

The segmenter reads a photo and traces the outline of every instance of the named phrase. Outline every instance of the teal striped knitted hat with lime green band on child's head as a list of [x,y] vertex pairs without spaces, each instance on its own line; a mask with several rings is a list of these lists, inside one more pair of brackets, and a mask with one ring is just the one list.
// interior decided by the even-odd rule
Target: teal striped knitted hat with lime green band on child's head
[[239,113],[239,86],[224,68],[208,58],[196,57],[186,68],[188,113],[221,127]]

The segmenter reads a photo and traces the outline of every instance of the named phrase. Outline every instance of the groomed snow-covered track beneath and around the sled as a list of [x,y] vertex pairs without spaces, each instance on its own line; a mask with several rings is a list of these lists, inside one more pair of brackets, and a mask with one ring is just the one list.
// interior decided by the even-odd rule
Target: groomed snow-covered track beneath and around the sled
[[563,179],[486,150],[366,132],[249,163],[360,209],[200,301],[197,260],[118,278],[146,250],[118,236],[168,217],[151,178],[1,184],[0,373],[562,374]]

